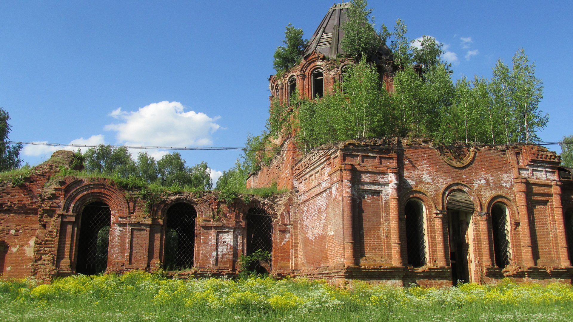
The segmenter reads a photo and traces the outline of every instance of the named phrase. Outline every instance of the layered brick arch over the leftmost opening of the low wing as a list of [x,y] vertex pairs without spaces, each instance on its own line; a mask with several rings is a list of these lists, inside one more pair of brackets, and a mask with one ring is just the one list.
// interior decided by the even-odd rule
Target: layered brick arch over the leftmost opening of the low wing
[[83,206],[92,201],[107,203],[112,216],[129,214],[129,204],[122,191],[108,183],[107,179],[85,182],[72,180],[64,188],[62,212],[79,214]]

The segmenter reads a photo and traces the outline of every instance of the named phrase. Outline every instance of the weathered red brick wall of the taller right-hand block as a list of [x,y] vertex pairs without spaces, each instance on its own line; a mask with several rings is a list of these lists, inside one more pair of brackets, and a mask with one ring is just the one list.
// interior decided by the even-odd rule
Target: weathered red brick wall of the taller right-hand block
[[[446,201],[462,191],[474,205],[463,245],[471,281],[570,282],[563,216],[573,208],[573,184],[559,178],[559,156],[539,146],[466,148],[462,154],[453,158],[427,141],[393,139],[346,142],[299,159],[292,168],[299,218],[293,273],[337,283],[451,285]],[[286,166],[263,168],[265,180],[258,174],[249,180],[265,186],[289,172]],[[422,268],[407,262],[404,207],[411,198],[425,209]],[[510,227],[511,263],[503,269],[495,264],[490,218],[499,202]]]

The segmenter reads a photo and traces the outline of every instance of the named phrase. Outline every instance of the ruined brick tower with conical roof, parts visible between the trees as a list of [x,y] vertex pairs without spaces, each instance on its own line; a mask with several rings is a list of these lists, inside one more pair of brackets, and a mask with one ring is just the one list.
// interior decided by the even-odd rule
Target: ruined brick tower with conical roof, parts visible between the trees
[[[291,100],[299,89],[301,98],[316,99],[332,92],[335,83],[342,83],[345,70],[356,63],[355,57],[342,49],[344,30],[342,25],[348,21],[350,3],[337,3],[328,9],[319,23],[308,45],[301,55],[301,62],[280,76],[269,77],[270,104],[278,100],[292,111]],[[376,66],[380,80],[386,84],[387,91],[393,91],[393,75],[397,70],[392,60],[392,52],[386,44],[374,53],[368,54],[368,62]],[[285,131],[287,132],[287,131]],[[303,156],[293,136],[296,128],[288,131],[273,143],[281,147],[270,166],[263,166],[256,174],[247,179],[247,187],[269,187],[277,184],[278,189],[293,189],[293,167]]]

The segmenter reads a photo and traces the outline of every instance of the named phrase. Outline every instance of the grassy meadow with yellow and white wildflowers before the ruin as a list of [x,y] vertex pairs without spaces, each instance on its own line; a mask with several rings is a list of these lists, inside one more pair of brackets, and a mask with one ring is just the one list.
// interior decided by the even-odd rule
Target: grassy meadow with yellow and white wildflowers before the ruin
[[399,288],[362,282],[170,280],[160,273],[0,282],[1,321],[573,321],[566,284]]

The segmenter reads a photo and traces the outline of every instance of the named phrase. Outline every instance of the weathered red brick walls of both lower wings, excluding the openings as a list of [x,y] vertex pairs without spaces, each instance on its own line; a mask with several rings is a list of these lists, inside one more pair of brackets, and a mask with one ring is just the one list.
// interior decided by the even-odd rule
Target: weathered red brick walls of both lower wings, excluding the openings
[[[291,139],[285,146],[295,146]],[[296,150],[292,150],[295,151]],[[474,211],[462,223],[471,281],[571,282],[564,216],[573,213],[573,182],[560,178],[559,156],[543,147],[476,147],[458,154],[423,140],[348,141],[297,157],[277,156],[250,176],[253,187],[292,184],[272,198],[217,193],[165,194],[151,209],[109,179],[53,179],[60,165],[38,166],[24,183],[0,186],[0,268],[3,277],[74,274],[83,206],[111,209],[108,272],[162,267],[167,210],[179,202],[197,211],[194,269],[178,274],[234,274],[246,249],[246,214],[273,217],[272,273],[343,284],[452,284],[448,196],[468,195]],[[260,175],[263,174],[261,177]],[[278,184],[277,184],[278,185]],[[408,263],[405,206],[423,204],[426,265]],[[508,211],[511,260],[494,258],[494,204]]]

